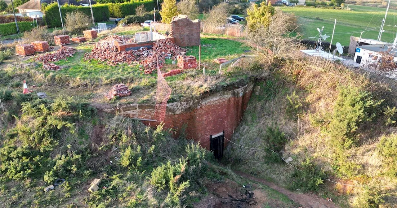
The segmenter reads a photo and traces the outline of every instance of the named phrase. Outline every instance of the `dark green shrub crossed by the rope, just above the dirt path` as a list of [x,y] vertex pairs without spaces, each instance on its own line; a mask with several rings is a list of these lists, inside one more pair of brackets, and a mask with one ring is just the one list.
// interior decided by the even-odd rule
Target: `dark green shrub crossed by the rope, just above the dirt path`
[[292,174],[293,183],[291,189],[307,191],[318,191],[322,185],[323,177],[326,177],[324,172],[318,166],[313,164],[309,158],[298,166],[299,170],[295,170]]

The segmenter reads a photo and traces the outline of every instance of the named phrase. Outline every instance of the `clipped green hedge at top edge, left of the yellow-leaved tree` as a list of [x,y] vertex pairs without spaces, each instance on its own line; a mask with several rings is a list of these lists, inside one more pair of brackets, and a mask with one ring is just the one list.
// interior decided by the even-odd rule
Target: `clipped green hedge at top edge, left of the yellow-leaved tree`
[[132,1],[121,4],[109,3],[110,17],[125,17],[127,15],[135,15],[135,9],[143,4],[146,11],[151,11],[153,8],[157,8],[157,5],[152,0],[145,1]]

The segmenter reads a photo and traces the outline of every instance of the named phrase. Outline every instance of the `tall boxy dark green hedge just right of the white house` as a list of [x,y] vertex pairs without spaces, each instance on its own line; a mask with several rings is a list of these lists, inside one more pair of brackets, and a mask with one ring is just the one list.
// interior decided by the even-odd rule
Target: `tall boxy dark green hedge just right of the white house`
[[[89,6],[61,6],[62,18],[65,21],[66,13],[72,11],[82,11],[84,14],[91,17],[91,10]],[[106,4],[94,4],[93,13],[95,22],[106,21],[109,19],[109,7]],[[48,27],[62,27],[61,18],[59,16],[58,4],[56,2],[49,4],[44,9],[44,21]]]

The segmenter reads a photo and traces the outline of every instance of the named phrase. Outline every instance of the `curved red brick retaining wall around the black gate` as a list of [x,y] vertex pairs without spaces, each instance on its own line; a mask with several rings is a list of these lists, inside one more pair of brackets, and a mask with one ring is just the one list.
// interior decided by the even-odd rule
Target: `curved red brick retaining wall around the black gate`
[[[176,130],[175,137],[178,137],[183,126],[187,124],[186,137],[200,141],[202,147],[210,149],[210,135],[225,131],[225,137],[231,139],[243,118],[252,88],[253,84],[249,84],[236,90],[218,92],[201,100],[169,103],[164,127]],[[118,112],[126,117],[154,119],[152,105],[122,106]],[[143,123],[150,126],[159,124],[150,121]],[[225,140],[225,145],[227,143]]]

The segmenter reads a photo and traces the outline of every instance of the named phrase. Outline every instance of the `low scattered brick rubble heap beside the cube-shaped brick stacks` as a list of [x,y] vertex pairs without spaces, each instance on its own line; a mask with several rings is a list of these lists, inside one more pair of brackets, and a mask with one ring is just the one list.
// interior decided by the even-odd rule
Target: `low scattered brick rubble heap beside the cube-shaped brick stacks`
[[49,62],[59,61],[62,59],[66,60],[67,57],[73,57],[73,54],[75,52],[76,52],[75,48],[61,46],[61,48],[58,49],[56,52],[40,55],[39,57],[37,57],[36,60],[42,61],[43,69],[57,71],[60,70],[61,67]]

